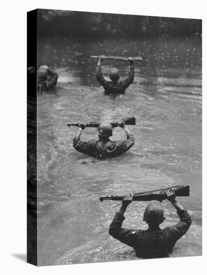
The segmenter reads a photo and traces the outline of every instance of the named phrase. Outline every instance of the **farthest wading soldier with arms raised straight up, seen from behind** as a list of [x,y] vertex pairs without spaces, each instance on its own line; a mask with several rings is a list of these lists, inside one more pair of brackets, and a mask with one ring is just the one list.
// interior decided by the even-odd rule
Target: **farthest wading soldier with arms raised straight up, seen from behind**
[[109,77],[111,81],[106,81],[106,79],[101,74],[101,64],[102,61],[106,58],[105,55],[100,55],[97,67],[96,67],[96,79],[104,87],[105,94],[124,94],[125,89],[133,82],[134,80],[134,61],[131,57],[128,58],[130,62],[130,71],[129,76],[123,80],[118,81],[120,78],[120,72],[117,68],[111,68]]

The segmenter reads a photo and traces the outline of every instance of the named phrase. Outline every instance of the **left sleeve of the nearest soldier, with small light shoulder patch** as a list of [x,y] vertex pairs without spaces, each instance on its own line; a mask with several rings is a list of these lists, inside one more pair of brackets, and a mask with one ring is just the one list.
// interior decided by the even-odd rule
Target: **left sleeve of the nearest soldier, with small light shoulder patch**
[[120,240],[121,242],[133,247],[135,246],[137,240],[137,233],[139,230],[125,229],[121,227],[124,219],[125,217],[121,213],[116,212],[109,226],[109,234],[112,237]]

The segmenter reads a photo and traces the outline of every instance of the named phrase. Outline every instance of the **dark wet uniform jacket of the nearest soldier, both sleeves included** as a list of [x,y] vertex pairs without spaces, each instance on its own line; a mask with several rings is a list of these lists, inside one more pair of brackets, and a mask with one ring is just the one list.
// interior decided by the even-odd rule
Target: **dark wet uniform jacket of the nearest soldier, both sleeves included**
[[121,242],[132,246],[136,255],[141,258],[168,257],[176,241],[184,235],[190,224],[191,217],[186,210],[177,211],[180,221],[164,229],[125,229],[122,222],[125,217],[117,212],[109,227],[109,234]]

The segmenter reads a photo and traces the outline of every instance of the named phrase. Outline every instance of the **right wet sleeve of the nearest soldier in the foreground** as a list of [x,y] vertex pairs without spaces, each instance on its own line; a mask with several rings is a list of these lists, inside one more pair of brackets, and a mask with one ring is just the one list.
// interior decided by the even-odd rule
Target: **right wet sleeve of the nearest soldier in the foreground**
[[164,228],[166,236],[172,238],[173,242],[176,242],[181,236],[183,236],[191,224],[191,217],[187,210],[177,211],[177,214],[180,217],[180,221],[173,226]]

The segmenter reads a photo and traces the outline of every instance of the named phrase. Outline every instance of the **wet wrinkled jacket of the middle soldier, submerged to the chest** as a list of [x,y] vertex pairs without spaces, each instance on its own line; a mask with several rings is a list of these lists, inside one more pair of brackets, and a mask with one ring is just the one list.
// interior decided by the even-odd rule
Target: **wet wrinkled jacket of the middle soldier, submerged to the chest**
[[109,139],[105,143],[101,140],[82,141],[78,137],[73,139],[73,146],[77,151],[99,159],[119,156],[131,148],[133,144],[134,136],[132,133],[127,134],[126,140],[112,141]]

